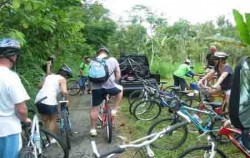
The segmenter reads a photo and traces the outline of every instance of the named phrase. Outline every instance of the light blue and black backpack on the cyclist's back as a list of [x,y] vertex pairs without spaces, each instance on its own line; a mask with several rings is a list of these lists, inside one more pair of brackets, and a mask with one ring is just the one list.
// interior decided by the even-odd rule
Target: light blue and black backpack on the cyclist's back
[[89,80],[93,83],[103,83],[109,78],[107,58],[94,58],[89,66]]

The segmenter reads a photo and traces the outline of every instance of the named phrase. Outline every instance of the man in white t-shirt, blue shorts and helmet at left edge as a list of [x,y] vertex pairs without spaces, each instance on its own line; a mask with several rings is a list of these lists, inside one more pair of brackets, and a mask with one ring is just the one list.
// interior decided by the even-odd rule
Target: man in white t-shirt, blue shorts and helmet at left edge
[[31,123],[25,101],[30,97],[17,73],[11,71],[21,47],[10,38],[0,40],[0,158],[17,158],[22,147],[21,123]]

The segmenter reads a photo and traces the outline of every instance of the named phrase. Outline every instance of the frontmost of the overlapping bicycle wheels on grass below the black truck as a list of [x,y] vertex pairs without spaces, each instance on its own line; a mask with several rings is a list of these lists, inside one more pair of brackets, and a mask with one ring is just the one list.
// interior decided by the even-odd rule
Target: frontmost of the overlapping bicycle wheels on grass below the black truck
[[160,116],[161,105],[154,100],[145,100],[135,105],[133,114],[137,120],[153,120]]

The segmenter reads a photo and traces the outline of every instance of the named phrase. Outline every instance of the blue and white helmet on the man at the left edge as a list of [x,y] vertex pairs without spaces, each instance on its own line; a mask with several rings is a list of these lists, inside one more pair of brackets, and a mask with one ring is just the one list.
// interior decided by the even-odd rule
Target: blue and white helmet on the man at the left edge
[[11,38],[0,40],[0,57],[9,57],[21,51],[20,43]]

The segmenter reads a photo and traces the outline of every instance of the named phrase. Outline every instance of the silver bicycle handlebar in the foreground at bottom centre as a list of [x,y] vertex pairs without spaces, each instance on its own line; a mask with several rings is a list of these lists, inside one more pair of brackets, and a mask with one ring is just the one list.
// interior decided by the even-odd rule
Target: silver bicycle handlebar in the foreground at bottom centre
[[[185,119],[186,119],[186,117],[185,117]],[[102,158],[102,157],[111,157],[111,156],[113,156],[115,154],[123,153],[127,148],[141,148],[143,146],[148,146],[149,144],[151,144],[152,142],[154,142],[158,138],[164,136],[165,134],[173,132],[177,128],[188,124],[189,121],[190,121],[190,119],[188,119],[186,121],[183,121],[183,122],[180,122],[180,123],[177,123],[177,124],[175,124],[173,126],[166,127],[163,130],[161,130],[160,132],[152,133],[151,135],[148,135],[148,136],[142,137],[140,139],[137,139],[137,140],[135,140],[133,142],[130,142],[129,144],[119,145],[114,150],[111,150],[111,151],[109,151],[107,153],[104,153],[104,154],[100,154],[98,152],[98,150],[97,150],[97,146],[96,146],[95,141],[91,141],[92,150],[93,150],[94,155],[97,158]],[[143,142],[141,142],[141,141],[143,141]],[[141,142],[141,143],[139,143],[139,142]],[[136,144],[136,143],[139,143],[139,144]],[[147,149],[147,153],[149,153],[149,151],[151,150],[149,146],[146,149]]]

